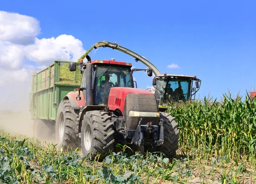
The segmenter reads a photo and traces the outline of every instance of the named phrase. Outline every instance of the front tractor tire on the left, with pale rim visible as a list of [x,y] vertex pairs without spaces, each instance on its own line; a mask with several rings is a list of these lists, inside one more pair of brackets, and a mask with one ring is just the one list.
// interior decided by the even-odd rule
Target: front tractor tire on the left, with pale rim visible
[[83,155],[89,160],[100,155],[98,159],[102,161],[114,145],[114,127],[109,113],[104,110],[86,112],[81,127]]

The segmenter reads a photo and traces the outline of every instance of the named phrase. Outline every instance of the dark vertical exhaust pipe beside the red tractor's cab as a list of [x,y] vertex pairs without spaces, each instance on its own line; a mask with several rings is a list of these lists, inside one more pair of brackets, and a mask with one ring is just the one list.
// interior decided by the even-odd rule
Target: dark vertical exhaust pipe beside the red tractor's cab
[[93,65],[90,59],[90,56],[86,56],[86,97],[85,105],[93,105]]

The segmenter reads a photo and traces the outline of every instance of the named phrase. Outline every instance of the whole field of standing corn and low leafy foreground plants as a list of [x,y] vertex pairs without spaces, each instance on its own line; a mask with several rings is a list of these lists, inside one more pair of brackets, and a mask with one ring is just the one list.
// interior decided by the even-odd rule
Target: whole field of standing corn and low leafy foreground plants
[[[254,99],[255,100],[255,99]],[[79,148],[0,130],[2,184],[256,184],[256,103],[224,95],[220,103],[201,101],[170,105],[180,130],[177,156],[120,152],[102,162],[88,161]]]

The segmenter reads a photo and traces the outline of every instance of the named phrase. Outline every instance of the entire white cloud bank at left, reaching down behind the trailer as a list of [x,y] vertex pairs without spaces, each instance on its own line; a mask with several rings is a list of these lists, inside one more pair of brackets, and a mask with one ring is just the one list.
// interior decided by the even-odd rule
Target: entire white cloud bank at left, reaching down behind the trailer
[[82,42],[72,35],[38,39],[39,33],[35,18],[0,11],[0,104],[6,104],[0,109],[27,111],[32,73],[54,60],[77,61],[85,53]]

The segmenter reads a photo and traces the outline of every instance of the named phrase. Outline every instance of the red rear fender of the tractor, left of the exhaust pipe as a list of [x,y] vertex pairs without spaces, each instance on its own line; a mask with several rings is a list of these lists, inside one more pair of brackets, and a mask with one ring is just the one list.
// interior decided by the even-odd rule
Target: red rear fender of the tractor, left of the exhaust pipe
[[76,100],[76,97],[78,96],[78,91],[75,91],[75,92],[69,92],[67,93],[66,96],[64,96],[64,100],[69,100],[70,101],[70,105],[71,105],[71,108],[73,109],[77,109],[77,110],[80,110],[80,107],[81,106],[85,106],[85,102],[84,102],[84,95],[83,93],[80,93],[80,96],[81,96],[81,100]]

